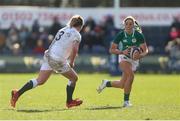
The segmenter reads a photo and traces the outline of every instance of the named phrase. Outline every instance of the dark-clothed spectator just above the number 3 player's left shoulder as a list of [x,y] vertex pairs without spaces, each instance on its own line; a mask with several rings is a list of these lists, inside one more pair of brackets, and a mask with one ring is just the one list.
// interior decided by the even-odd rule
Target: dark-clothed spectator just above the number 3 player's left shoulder
[[55,37],[56,33],[59,29],[62,28],[61,23],[59,22],[59,19],[57,16],[53,18],[53,24],[49,28],[49,34],[53,35]]

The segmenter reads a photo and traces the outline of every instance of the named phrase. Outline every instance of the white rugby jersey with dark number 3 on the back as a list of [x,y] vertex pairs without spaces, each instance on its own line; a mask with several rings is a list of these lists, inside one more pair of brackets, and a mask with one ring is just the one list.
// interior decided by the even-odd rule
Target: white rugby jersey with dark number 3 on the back
[[74,41],[81,41],[81,35],[75,28],[66,26],[60,29],[49,46],[49,55],[57,61],[68,59]]

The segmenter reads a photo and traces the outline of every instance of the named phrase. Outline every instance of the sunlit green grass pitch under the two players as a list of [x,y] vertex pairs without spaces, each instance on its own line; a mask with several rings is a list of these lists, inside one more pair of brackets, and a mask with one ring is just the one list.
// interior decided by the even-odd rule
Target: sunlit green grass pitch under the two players
[[67,109],[67,80],[53,74],[48,82],[26,92],[10,107],[10,92],[20,88],[37,74],[0,74],[0,119],[2,120],[180,120],[179,75],[136,74],[131,93],[133,107],[122,108],[123,91],[105,89],[97,94],[96,88],[108,74],[79,74],[74,97],[83,99],[80,107]]

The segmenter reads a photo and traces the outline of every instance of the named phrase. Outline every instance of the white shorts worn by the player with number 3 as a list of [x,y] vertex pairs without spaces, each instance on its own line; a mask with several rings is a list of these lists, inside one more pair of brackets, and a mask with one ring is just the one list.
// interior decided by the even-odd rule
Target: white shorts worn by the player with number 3
[[65,73],[70,69],[71,67],[67,61],[56,61],[45,52],[40,70],[53,70],[56,73]]

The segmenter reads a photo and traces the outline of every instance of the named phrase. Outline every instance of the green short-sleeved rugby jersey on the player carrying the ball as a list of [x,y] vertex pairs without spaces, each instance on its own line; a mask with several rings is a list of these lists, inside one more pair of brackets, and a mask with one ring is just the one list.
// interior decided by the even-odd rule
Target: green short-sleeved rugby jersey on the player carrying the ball
[[136,30],[132,34],[127,34],[124,30],[119,32],[113,42],[119,45],[120,50],[125,50],[130,46],[139,47],[145,42],[144,35]]

